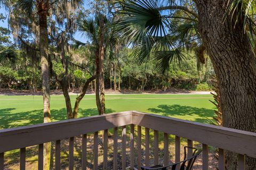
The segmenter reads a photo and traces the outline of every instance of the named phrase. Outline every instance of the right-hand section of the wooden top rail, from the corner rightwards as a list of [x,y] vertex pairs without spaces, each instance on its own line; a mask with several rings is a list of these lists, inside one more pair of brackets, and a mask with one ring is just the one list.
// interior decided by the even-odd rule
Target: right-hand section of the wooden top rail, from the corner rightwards
[[132,111],[132,123],[256,158],[256,133]]

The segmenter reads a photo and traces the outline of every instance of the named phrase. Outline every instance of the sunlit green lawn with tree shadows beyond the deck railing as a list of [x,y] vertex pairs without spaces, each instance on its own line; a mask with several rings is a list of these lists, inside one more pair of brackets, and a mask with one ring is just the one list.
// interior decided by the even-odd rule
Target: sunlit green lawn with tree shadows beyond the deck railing
[[[76,95],[71,96],[74,105]],[[212,95],[106,95],[107,113],[141,111],[207,123],[212,119]],[[0,95],[0,129],[43,122],[42,96]],[[65,99],[51,96],[52,121],[66,119]],[[81,101],[78,117],[97,115],[94,95]]]

